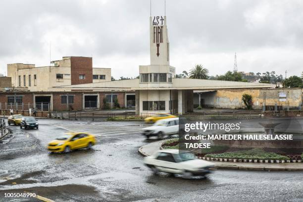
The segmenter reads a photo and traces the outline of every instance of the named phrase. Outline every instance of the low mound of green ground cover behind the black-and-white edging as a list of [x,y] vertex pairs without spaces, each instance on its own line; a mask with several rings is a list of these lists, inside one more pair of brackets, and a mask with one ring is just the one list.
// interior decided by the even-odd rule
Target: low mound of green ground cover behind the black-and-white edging
[[238,151],[238,152],[225,152],[225,153],[217,153],[217,154],[206,154],[205,157],[253,159],[253,160],[290,160],[290,158],[287,156],[283,156],[274,152],[265,152],[260,149]]

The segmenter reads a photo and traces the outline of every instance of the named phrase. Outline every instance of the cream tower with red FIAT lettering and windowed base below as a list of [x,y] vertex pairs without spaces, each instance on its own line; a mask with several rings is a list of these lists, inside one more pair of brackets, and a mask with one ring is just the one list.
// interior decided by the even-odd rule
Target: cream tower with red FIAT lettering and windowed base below
[[140,113],[169,112],[175,96],[161,88],[172,87],[175,67],[169,65],[166,16],[150,17],[150,57],[150,65],[139,66],[140,90],[136,95],[140,96]]

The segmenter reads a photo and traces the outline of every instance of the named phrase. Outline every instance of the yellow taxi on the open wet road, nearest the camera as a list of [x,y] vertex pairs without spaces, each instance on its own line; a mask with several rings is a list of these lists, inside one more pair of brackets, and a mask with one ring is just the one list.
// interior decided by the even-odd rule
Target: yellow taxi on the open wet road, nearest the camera
[[49,152],[70,152],[72,150],[88,148],[96,144],[94,135],[82,132],[65,133],[48,144]]

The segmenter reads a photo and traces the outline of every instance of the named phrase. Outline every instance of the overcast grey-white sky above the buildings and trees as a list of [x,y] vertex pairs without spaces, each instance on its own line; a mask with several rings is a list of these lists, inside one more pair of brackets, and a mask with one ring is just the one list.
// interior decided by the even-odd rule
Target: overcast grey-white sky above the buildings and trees
[[[152,16],[164,0],[152,0]],[[7,63],[47,66],[93,56],[112,76],[135,77],[150,64],[150,0],[1,0],[0,72]],[[170,64],[201,63],[210,75],[233,70],[303,71],[303,0],[166,0]]]

